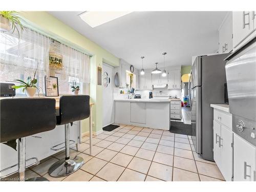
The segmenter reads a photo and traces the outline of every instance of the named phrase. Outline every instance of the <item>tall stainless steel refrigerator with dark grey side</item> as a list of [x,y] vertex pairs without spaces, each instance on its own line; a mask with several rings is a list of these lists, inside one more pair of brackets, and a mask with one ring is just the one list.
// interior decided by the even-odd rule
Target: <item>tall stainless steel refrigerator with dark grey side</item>
[[214,160],[212,148],[214,112],[211,103],[224,103],[226,82],[224,59],[228,54],[198,56],[193,63],[188,84],[192,140],[198,154]]

